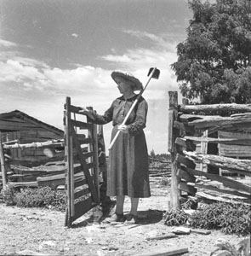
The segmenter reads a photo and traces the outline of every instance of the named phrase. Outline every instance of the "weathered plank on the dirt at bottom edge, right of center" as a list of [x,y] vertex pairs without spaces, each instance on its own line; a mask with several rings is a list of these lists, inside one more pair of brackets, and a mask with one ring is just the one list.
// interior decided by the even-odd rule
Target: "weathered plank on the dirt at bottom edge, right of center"
[[180,255],[183,253],[188,253],[187,247],[168,247],[168,248],[162,248],[162,249],[149,249],[145,253],[139,253],[134,256],[172,256],[172,255]]

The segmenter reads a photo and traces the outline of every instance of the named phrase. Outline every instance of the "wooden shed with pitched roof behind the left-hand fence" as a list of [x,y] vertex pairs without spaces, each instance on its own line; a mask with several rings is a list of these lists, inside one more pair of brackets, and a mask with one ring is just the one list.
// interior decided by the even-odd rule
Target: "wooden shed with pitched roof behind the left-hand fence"
[[[3,142],[18,140],[20,144],[64,138],[64,131],[35,119],[20,110],[0,113],[0,131],[2,132]],[[48,159],[44,148],[11,148],[9,150],[14,160],[34,162]]]

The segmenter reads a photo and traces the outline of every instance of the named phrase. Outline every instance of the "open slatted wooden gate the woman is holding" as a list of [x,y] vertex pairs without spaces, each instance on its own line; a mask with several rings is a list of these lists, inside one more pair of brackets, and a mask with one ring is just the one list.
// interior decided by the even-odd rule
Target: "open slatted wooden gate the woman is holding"
[[[65,154],[66,154],[66,223],[97,206],[100,202],[97,126],[78,113],[66,97]],[[84,119],[83,120],[77,120]]]

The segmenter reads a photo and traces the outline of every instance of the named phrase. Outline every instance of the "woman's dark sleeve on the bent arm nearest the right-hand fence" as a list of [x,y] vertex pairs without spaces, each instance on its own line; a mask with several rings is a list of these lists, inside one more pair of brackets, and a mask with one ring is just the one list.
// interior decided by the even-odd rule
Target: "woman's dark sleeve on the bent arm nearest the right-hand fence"
[[132,124],[128,125],[128,131],[130,134],[135,136],[145,128],[147,110],[147,102],[145,102],[145,100],[140,101],[135,113],[136,118]]

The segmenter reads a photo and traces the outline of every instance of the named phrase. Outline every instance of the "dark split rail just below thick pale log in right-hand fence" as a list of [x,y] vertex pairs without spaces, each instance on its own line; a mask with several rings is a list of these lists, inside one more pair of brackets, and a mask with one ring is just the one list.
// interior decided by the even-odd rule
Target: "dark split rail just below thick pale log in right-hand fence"
[[181,170],[184,170],[185,172],[189,172],[191,175],[204,176],[211,180],[219,181],[220,183],[223,183],[225,187],[235,189],[235,190],[241,190],[241,191],[247,192],[249,194],[251,192],[251,187],[248,187],[247,185],[239,183],[235,180],[232,180],[231,178],[222,177],[220,175],[212,174],[212,173],[208,173],[208,172],[197,171],[197,170],[185,167],[185,166],[180,166],[180,168],[181,168]]

